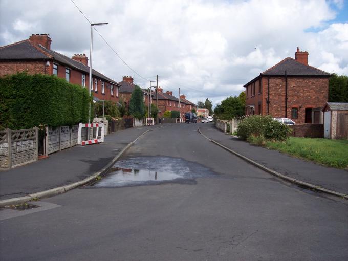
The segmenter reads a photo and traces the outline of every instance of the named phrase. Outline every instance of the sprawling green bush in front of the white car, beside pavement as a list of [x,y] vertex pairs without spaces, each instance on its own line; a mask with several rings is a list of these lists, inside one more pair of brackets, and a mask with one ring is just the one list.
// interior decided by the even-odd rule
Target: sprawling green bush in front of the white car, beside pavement
[[253,115],[244,118],[238,124],[237,136],[243,140],[254,140],[259,137],[256,143],[264,140],[285,141],[290,133],[287,125],[280,124],[272,119],[272,116]]

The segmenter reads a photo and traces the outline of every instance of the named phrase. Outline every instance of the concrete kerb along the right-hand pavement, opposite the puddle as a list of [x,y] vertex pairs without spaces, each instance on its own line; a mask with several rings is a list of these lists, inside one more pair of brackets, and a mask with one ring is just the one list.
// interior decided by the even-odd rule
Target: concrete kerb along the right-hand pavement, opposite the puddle
[[277,172],[277,171],[275,171],[273,169],[270,169],[270,168],[268,168],[268,167],[266,167],[266,166],[264,166],[262,164],[259,164],[256,161],[253,161],[253,160],[251,160],[251,159],[249,159],[249,158],[247,158],[247,157],[237,153],[236,151],[234,151],[234,150],[232,150],[232,149],[230,149],[230,148],[220,144],[219,142],[216,142],[216,141],[214,141],[212,139],[209,139],[207,136],[205,136],[201,132],[200,127],[198,127],[198,132],[204,138],[206,138],[207,140],[209,140],[212,143],[216,144],[217,146],[220,146],[220,147],[226,149],[227,151],[229,151],[230,153],[234,154],[235,156],[240,157],[241,159],[245,160],[246,162],[248,162],[248,163],[250,163],[250,164],[252,164],[252,165],[254,165],[254,166],[256,166],[256,167],[258,167],[258,168],[260,168],[260,169],[262,169],[262,170],[264,170],[264,171],[266,171],[268,173],[270,173],[270,174],[272,174],[273,176],[276,176],[276,177],[278,177],[278,178],[280,178],[282,180],[286,180],[288,182],[294,183],[296,185],[303,186],[305,188],[309,188],[309,189],[313,189],[313,190],[320,191],[320,192],[323,192],[323,193],[328,193],[328,194],[331,194],[331,195],[335,195],[336,197],[339,197],[339,198],[342,198],[342,199],[348,199],[348,195],[346,195],[346,194],[343,194],[343,193],[340,193],[340,192],[336,192],[336,191],[333,191],[333,190],[330,190],[330,189],[327,189],[327,188],[323,188],[323,187],[318,186],[318,185],[313,185],[313,184],[305,182],[305,181],[296,180],[296,179],[291,178],[291,177],[289,177],[287,175],[283,175],[283,174],[281,174],[281,173],[279,173],[279,172]]

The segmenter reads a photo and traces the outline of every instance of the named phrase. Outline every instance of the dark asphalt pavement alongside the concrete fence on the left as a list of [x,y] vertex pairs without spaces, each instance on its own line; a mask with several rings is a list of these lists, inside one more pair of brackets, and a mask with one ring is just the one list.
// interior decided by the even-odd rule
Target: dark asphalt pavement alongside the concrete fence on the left
[[143,126],[120,130],[107,135],[103,143],[64,149],[46,159],[1,171],[0,200],[25,197],[89,178],[109,164],[123,148],[146,130],[158,127]]

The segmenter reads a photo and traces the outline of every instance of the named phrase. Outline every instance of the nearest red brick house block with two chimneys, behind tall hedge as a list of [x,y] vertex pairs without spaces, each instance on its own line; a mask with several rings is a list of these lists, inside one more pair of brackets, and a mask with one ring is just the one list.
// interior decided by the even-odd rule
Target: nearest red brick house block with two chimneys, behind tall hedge
[[[32,34],[29,40],[0,47],[0,77],[27,71],[29,74],[49,74],[89,88],[90,68],[85,54],[72,58],[51,50],[48,34]],[[120,85],[92,69],[91,91],[95,100],[118,102]]]

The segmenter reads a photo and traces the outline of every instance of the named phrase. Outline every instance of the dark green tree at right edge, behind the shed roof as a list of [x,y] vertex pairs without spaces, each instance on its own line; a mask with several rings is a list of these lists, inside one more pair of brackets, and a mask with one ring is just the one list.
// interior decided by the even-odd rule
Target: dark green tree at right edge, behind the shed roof
[[333,74],[329,80],[329,102],[348,102],[348,76]]

